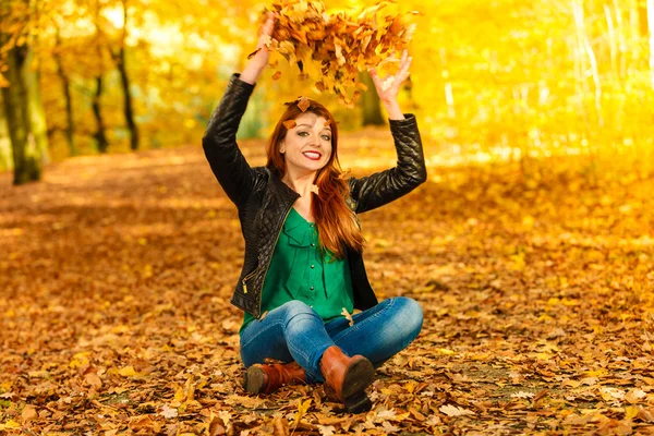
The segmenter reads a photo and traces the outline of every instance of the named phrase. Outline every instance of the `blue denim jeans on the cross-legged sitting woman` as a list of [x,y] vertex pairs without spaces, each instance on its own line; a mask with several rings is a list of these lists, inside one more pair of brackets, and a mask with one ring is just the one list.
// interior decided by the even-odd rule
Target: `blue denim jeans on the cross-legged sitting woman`
[[295,361],[307,383],[324,382],[320,358],[338,346],[346,354],[361,354],[378,367],[403,350],[420,334],[423,312],[414,300],[397,296],[384,300],[348,319],[327,324],[305,303],[293,300],[255,319],[241,332],[241,359],[246,367],[270,358]]

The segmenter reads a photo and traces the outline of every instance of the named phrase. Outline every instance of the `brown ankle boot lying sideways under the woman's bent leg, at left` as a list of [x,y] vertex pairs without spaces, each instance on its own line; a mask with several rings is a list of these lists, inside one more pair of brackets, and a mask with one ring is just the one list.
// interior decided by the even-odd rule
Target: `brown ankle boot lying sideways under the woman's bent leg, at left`
[[305,382],[304,368],[296,362],[256,364],[245,372],[243,386],[251,393],[270,393],[283,385]]

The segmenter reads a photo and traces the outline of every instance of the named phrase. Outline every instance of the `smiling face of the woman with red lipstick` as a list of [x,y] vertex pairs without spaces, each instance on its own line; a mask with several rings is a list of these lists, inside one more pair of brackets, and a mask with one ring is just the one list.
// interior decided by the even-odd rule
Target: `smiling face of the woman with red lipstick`
[[331,129],[327,120],[312,112],[295,118],[295,126],[289,129],[279,144],[287,172],[304,174],[318,171],[331,157]]

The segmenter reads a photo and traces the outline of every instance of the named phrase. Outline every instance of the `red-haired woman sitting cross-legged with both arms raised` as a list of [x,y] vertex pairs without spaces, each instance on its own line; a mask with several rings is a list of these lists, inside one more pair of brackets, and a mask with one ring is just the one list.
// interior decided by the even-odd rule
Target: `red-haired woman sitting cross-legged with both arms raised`
[[[245,239],[243,270],[231,300],[244,311],[244,386],[269,393],[288,383],[324,382],[329,399],[359,413],[372,407],[365,389],[374,368],[404,349],[422,327],[415,301],[400,296],[377,303],[356,218],[426,179],[415,118],[404,116],[397,101],[411,58],[402,55],[389,87],[371,70],[390,118],[396,168],[343,179],[336,121],[305,97],[288,104],[269,141],[266,167],[252,168],[235,134],[268,63],[265,41],[274,26],[270,15],[257,51],[232,76],[203,137],[211,170],[238,207]],[[363,312],[350,315],[354,308]],[[286,363],[264,364],[265,359]]]

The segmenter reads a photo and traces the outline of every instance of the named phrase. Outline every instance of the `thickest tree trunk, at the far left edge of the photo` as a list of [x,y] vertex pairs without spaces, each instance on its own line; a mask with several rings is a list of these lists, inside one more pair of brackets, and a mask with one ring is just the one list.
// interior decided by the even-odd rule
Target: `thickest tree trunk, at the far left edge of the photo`
[[[7,126],[11,137],[14,162],[14,184],[40,180],[41,166],[47,157],[45,119],[38,95],[37,74],[29,71],[33,58],[27,46],[12,47],[7,53],[9,87],[2,88]],[[45,146],[44,146],[45,145]]]

